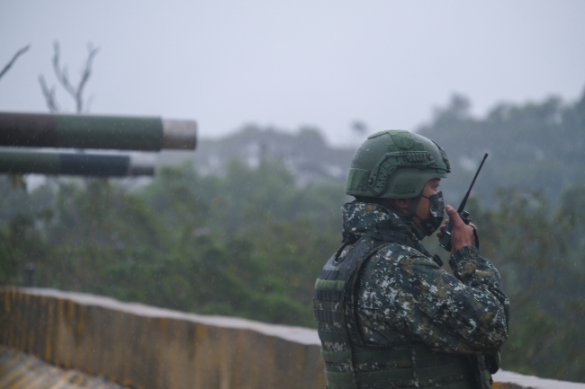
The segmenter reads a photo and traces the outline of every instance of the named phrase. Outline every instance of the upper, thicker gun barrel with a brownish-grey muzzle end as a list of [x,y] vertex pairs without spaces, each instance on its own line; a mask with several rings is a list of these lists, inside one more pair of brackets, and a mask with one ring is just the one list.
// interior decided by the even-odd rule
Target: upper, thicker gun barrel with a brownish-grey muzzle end
[[194,150],[196,135],[193,120],[0,112],[0,146]]

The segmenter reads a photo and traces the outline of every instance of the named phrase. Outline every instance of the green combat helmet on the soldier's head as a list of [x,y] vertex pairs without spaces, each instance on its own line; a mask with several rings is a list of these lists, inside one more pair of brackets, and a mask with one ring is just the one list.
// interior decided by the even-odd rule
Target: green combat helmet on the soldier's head
[[383,199],[418,197],[429,180],[451,172],[445,150],[432,140],[401,129],[378,132],[357,150],[347,174],[346,193]]

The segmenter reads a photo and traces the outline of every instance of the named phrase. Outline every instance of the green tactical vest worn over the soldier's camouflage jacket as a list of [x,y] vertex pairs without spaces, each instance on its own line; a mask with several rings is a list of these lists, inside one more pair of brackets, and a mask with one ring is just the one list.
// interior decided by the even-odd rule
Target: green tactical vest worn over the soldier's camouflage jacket
[[428,254],[419,241],[392,231],[362,236],[347,255],[334,254],[315,283],[314,314],[328,389],[489,389],[482,356],[433,351],[424,344],[402,349],[366,346],[357,325],[356,282],[365,261],[384,245],[399,243]]

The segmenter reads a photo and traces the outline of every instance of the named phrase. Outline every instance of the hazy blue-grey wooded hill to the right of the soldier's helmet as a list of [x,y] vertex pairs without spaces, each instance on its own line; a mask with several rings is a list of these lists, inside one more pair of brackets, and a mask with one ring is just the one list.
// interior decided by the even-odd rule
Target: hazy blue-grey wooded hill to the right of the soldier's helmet
[[474,191],[490,203],[498,188],[541,192],[557,201],[563,188],[585,181],[585,93],[568,104],[554,97],[502,103],[484,119],[473,118],[469,107],[469,100],[455,95],[417,131],[446,149],[453,171],[444,186],[449,195],[460,193],[455,199],[463,196],[484,153],[490,157]]

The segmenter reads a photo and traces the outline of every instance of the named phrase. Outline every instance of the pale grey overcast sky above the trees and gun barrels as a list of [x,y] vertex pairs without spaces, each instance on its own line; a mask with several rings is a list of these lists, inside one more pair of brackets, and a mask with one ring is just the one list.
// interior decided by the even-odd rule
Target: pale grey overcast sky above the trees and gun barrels
[[92,41],[92,113],[196,119],[208,137],[311,125],[347,143],[353,120],[414,129],[453,93],[478,115],[502,101],[573,101],[583,15],[583,1],[3,0],[0,66],[31,49],[0,79],[0,110],[47,111],[38,76],[56,84],[53,41],[74,79]]

